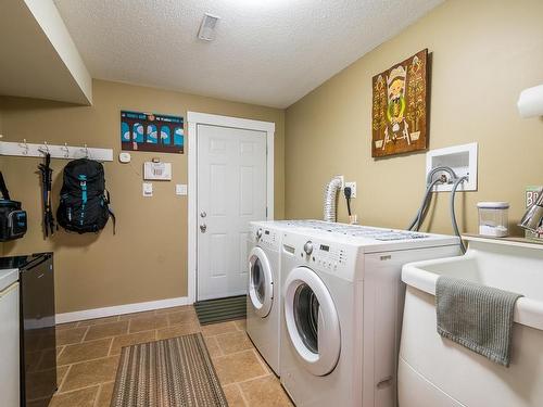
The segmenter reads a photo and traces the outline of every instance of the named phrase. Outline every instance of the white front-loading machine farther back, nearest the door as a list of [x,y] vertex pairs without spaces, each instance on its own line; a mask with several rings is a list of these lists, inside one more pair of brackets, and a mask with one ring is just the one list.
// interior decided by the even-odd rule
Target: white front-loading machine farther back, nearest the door
[[247,333],[262,357],[280,376],[280,249],[282,232],[329,228],[319,220],[253,221],[248,239]]

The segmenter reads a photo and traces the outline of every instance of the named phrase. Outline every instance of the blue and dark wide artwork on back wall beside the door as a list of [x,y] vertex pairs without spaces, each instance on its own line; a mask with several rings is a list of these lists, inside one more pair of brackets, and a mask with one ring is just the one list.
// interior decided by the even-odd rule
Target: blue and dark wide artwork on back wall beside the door
[[122,111],[122,150],[182,154],[182,125],[180,116]]

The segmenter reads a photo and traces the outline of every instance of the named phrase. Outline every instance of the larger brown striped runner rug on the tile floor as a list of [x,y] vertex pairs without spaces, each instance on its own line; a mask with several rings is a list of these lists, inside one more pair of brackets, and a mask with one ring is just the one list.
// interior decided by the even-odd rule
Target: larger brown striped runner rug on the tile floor
[[123,347],[111,407],[223,406],[201,333]]

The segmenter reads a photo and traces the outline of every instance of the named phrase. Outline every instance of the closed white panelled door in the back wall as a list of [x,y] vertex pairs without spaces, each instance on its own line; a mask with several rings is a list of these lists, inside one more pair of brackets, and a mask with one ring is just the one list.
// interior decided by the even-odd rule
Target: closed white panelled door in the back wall
[[198,125],[198,301],[247,294],[251,220],[266,219],[266,132]]

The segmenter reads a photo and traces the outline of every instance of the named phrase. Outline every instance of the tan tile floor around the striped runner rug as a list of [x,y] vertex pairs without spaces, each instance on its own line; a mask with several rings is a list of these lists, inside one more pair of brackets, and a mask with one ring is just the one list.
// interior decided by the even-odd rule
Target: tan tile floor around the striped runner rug
[[109,407],[123,346],[194,332],[206,340],[230,407],[292,406],[244,330],[244,321],[202,327],[192,306],[58,326],[59,391],[49,406]]

